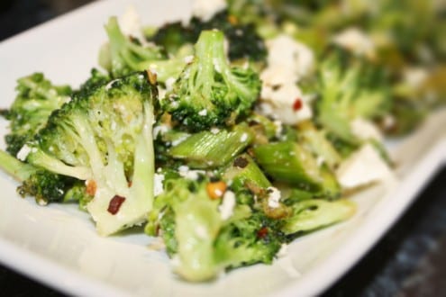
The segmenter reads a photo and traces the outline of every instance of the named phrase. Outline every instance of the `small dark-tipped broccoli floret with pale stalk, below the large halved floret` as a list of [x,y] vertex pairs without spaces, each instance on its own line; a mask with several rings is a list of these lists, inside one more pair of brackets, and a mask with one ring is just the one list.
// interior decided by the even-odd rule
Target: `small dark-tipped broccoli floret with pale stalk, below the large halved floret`
[[22,183],[17,188],[21,196],[31,195],[41,205],[71,200],[75,188],[76,200],[89,197],[85,184],[77,179],[24,163],[3,150],[0,150],[0,168]]

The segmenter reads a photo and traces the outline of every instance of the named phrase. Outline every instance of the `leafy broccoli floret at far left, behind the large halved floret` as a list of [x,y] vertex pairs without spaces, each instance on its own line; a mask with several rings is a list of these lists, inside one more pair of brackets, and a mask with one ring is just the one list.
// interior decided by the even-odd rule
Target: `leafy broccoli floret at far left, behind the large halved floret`
[[52,85],[41,73],[17,80],[17,96],[9,110],[1,112],[10,122],[5,136],[6,151],[16,156],[23,145],[40,130],[50,113],[69,100],[68,85]]

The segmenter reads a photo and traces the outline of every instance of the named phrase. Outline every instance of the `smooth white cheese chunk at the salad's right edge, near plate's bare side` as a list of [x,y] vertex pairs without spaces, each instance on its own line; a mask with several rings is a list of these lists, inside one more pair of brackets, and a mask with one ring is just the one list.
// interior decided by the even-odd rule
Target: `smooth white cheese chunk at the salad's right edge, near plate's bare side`
[[363,145],[336,170],[336,176],[344,189],[392,178],[392,171],[369,143]]

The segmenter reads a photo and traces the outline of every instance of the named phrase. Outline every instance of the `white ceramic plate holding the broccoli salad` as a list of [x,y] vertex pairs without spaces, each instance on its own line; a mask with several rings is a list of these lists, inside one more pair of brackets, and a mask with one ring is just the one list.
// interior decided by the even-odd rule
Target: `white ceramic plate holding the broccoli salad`
[[[181,0],[132,1],[144,23],[160,24],[190,14]],[[78,85],[96,66],[105,41],[104,23],[122,14],[122,0],[90,4],[0,44],[0,104],[14,98],[15,79],[42,71],[58,84]],[[5,135],[0,121],[0,135]],[[348,222],[298,238],[288,256],[272,266],[241,268],[209,284],[187,284],[170,271],[154,239],[138,233],[100,238],[93,222],[74,206],[40,207],[20,199],[16,183],[0,174],[0,261],[45,284],[75,295],[296,296],[323,292],[362,257],[401,215],[442,165],[446,113],[432,115],[411,138],[389,143],[398,169],[395,181],[354,199],[358,214]],[[2,140],[3,141],[3,140]],[[1,144],[5,146],[4,143]]]

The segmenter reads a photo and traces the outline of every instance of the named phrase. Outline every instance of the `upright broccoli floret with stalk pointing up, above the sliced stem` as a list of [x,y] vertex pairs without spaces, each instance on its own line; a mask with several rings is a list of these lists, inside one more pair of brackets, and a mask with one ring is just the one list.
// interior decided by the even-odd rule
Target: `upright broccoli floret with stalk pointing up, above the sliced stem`
[[259,76],[249,67],[232,67],[223,43],[223,32],[203,31],[194,60],[160,102],[172,120],[188,130],[231,126],[250,112],[259,96]]

